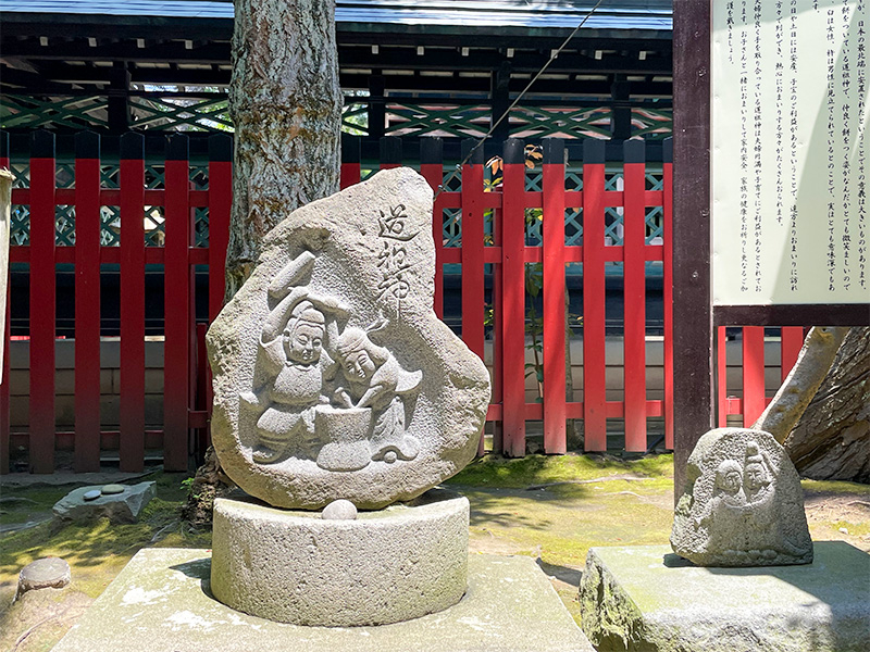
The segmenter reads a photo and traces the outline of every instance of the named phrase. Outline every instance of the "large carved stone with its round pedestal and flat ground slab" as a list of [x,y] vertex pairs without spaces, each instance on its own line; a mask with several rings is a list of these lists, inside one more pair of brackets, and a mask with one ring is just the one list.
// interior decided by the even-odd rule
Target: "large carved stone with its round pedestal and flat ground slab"
[[432,200],[382,171],[272,230],[208,335],[248,496],[215,501],[211,551],[139,551],[58,652],[592,652],[531,557],[469,554],[469,501],[435,488],[476,453],[489,375],[432,310]]

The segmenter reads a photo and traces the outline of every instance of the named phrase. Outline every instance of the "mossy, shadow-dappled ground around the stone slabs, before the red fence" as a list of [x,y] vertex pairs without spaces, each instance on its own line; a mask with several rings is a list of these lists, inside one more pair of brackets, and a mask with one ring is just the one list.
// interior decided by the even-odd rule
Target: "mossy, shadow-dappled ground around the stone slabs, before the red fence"
[[[159,473],[158,496],[139,523],[110,525],[107,519],[62,527],[44,523],[0,539],[0,616],[14,593],[17,573],[48,555],[67,560],[77,591],[99,595],[145,547],[210,548],[211,532],[183,525],[178,510],[187,488],[183,474]],[[530,455],[508,460],[488,455],[448,482],[471,502],[470,550],[537,557],[574,619],[580,623],[576,585],[586,553],[599,546],[667,544],[673,518],[673,456],[622,460],[609,455]],[[809,496],[848,503],[870,496],[870,486],[804,480]],[[73,489],[4,489],[2,518],[24,523]],[[855,512],[857,514],[857,512]],[[852,512],[825,511],[811,524],[813,538],[860,542],[870,524]],[[840,532],[848,530],[848,536]],[[2,618],[0,618],[2,622]],[[1,625],[0,625],[1,626]]]

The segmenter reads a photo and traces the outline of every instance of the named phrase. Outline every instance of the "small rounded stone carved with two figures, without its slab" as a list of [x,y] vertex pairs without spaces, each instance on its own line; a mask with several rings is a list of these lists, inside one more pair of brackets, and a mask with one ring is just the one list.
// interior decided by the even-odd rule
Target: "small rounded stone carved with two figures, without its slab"
[[671,547],[700,566],[782,566],[812,562],[804,490],[772,435],[719,428],[688,457]]

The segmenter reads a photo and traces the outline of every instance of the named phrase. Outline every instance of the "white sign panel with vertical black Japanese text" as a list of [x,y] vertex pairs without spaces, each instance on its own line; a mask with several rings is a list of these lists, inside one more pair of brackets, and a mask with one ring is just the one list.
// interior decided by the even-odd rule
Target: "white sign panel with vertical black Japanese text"
[[870,300],[866,0],[712,3],[713,305]]

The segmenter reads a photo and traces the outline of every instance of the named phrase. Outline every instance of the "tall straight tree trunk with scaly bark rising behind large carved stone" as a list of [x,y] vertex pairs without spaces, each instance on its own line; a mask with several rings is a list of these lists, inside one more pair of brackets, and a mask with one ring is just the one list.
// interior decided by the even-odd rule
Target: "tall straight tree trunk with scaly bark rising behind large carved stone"
[[341,88],[334,0],[236,0],[229,111],[236,128],[226,296],[263,236],[338,190]]

